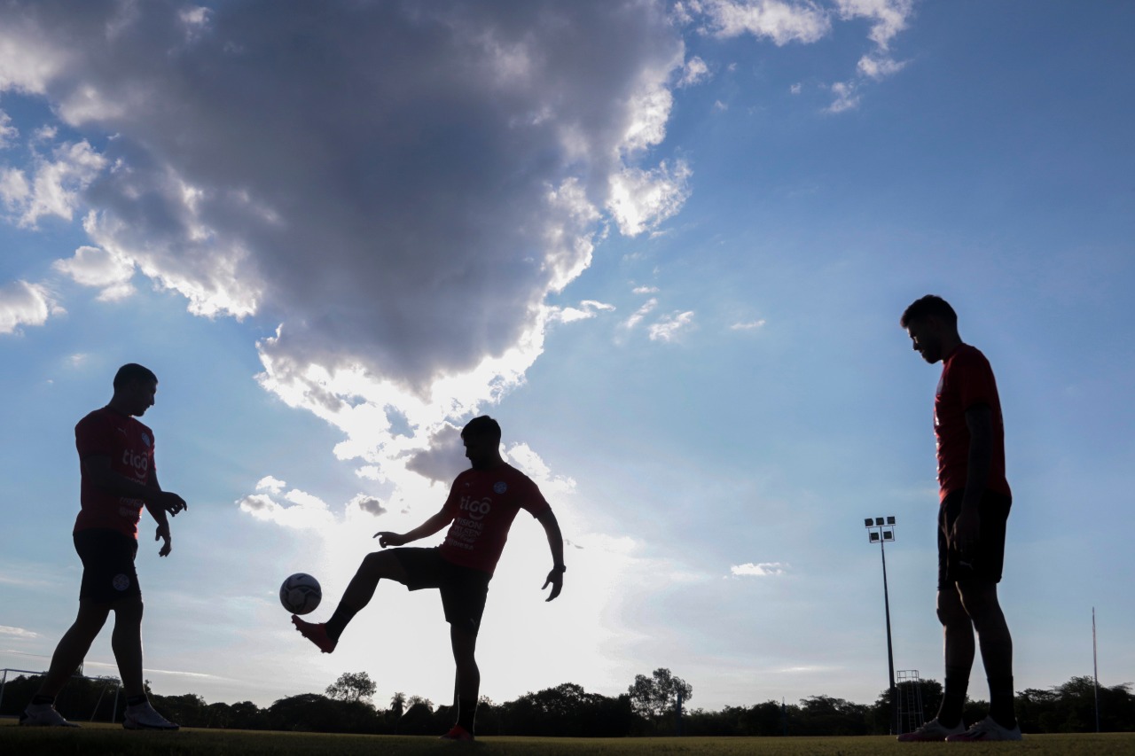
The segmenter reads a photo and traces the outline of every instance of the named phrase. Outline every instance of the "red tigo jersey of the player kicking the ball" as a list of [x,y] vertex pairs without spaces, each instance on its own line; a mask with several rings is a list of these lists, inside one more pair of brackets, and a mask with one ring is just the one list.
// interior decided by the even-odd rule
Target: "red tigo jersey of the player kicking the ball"
[[440,554],[454,564],[493,574],[516,512],[524,510],[535,518],[550,509],[539,487],[511,464],[465,470],[445,502],[453,524]]

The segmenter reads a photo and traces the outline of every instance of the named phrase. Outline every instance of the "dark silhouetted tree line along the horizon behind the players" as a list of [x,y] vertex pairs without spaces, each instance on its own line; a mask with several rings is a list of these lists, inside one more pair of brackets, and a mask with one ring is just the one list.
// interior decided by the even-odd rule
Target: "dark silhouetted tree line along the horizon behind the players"
[[[0,715],[16,715],[40,684],[39,675],[7,682]],[[900,697],[914,692],[901,686]],[[75,721],[121,721],[119,695],[115,711],[115,678],[75,678],[56,702],[59,712]],[[146,683],[149,691],[149,682]],[[239,730],[292,730],[372,734],[437,734],[453,723],[451,706],[435,705],[419,696],[395,694],[389,706],[376,706],[376,686],[365,672],[344,673],[322,694],[280,698],[266,708],[252,702],[209,704],[195,694],[160,696],[150,692],[154,707],[184,726]],[[120,692],[120,691],[119,691]],[[923,680],[918,692],[925,719],[932,719],[942,697],[936,680]],[[1094,732],[1099,695],[1100,730],[1135,731],[1135,695],[1129,683],[1100,687],[1090,677],[1077,677],[1049,689],[1026,689],[1016,696],[1017,717],[1026,733]],[[604,696],[565,682],[527,692],[502,704],[482,697],[477,732],[482,736],[627,737],[627,736],[856,736],[886,734],[891,723],[889,691],[873,704],[856,704],[830,696],[810,696],[796,704],[767,700],[754,706],[725,706],[720,711],[691,709],[692,687],[665,667],[639,674],[625,694]],[[679,716],[679,699],[681,716]],[[985,715],[981,700],[966,704],[966,721]],[[909,729],[909,728],[907,728]]]

